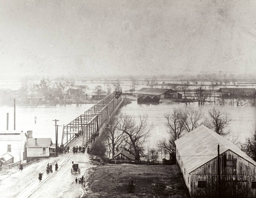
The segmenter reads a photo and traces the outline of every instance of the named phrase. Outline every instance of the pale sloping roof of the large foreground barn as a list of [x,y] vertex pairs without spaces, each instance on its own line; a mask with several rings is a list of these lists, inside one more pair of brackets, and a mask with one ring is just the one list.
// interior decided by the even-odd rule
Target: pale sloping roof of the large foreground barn
[[188,173],[216,158],[218,143],[220,144],[220,154],[230,150],[256,166],[256,162],[237,146],[204,125],[175,141],[176,148]]

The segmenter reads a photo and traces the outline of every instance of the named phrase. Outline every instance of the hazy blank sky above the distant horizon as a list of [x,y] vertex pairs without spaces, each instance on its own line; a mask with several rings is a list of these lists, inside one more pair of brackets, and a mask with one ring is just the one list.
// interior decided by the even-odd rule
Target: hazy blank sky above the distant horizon
[[0,77],[256,73],[256,1],[0,0]]

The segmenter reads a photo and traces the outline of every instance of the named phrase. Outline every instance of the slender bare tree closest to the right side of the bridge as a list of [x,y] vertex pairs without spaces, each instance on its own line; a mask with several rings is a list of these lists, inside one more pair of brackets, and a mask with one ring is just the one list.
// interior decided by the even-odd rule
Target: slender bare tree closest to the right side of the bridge
[[112,117],[105,128],[105,135],[109,142],[112,158],[115,155],[115,152],[119,151],[121,144],[124,142],[123,133],[117,129],[118,124],[119,120],[116,117]]

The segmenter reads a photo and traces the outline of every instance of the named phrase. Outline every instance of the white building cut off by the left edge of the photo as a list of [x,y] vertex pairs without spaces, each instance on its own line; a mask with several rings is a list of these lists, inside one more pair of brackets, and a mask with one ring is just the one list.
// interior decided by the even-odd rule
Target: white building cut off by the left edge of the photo
[[6,153],[13,157],[13,162],[26,160],[25,144],[27,137],[25,132],[19,130],[0,131],[0,156]]

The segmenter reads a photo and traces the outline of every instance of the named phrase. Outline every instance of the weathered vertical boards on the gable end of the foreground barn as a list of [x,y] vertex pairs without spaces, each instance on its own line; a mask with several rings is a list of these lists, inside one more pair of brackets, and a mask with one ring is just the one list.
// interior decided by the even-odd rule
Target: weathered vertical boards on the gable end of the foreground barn
[[[205,180],[207,183],[218,182],[218,158],[214,158],[196,170],[190,172],[189,185],[191,196],[198,195],[198,181]],[[251,182],[256,181],[256,167],[228,150],[220,155],[220,175],[222,182],[245,182],[250,187],[253,196],[256,197],[256,189],[251,188]],[[183,174],[183,177],[185,175]],[[188,182],[186,182],[188,184]],[[202,190],[202,188],[200,189]]]

